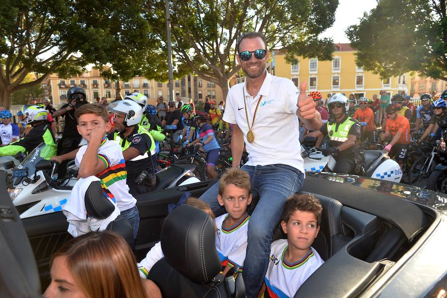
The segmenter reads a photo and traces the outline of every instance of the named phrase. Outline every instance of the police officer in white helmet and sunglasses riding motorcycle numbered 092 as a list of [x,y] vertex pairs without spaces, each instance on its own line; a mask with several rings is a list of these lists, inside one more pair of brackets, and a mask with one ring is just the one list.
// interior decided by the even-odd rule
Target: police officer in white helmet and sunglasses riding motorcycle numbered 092
[[[328,136],[330,147],[326,146],[324,155],[332,155],[337,164],[333,169],[336,173],[356,174],[356,162],[363,162],[360,148],[356,141],[360,139],[360,124],[348,116],[348,98],[335,93],[327,101],[330,119],[319,131],[309,134],[318,137],[321,134]],[[359,168],[360,170],[360,168]]]

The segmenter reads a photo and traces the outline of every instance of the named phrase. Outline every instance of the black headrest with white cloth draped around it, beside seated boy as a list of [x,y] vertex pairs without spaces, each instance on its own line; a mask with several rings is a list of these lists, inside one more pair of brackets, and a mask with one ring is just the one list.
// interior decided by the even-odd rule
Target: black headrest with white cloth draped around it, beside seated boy
[[95,219],[104,220],[115,210],[112,202],[106,199],[99,181],[93,181],[87,187],[84,197],[85,209]]

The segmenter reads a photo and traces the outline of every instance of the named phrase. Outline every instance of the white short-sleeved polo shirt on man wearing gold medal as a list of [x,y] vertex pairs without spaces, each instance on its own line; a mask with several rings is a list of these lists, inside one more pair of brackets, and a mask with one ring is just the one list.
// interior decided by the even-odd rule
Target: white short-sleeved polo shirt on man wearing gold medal
[[[248,124],[245,115],[245,102],[250,126],[253,114],[261,97],[253,125],[254,142],[247,142]],[[304,162],[299,144],[299,123],[297,101],[299,90],[287,78],[267,75],[258,95],[248,94],[245,83],[232,86],[226,97],[223,120],[237,124],[244,134],[245,148],[248,152],[246,165],[287,164],[304,173]]]

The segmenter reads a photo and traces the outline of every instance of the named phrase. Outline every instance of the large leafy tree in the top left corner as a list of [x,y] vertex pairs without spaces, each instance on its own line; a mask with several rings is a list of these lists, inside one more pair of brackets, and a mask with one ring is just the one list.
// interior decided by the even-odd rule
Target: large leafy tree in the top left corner
[[[142,5],[142,0],[0,1],[0,105],[8,107],[12,92],[35,86],[48,74],[80,74],[89,63],[110,78],[163,74],[161,46]],[[36,79],[25,82],[29,73]]]

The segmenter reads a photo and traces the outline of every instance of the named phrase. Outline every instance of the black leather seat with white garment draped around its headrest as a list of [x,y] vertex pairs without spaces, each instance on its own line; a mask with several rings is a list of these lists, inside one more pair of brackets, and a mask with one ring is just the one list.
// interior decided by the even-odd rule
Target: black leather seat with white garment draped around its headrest
[[[85,209],[95,219],[103,220],[108,218],[115,210],[113,204],[106,200],[102,192],[99,181],[91,182],[85,192],[84,197]],[[106,227],[107,230],[114,231],[121,236],[132,246],[133,233],[130,223],[125,219],[116,219]]]

